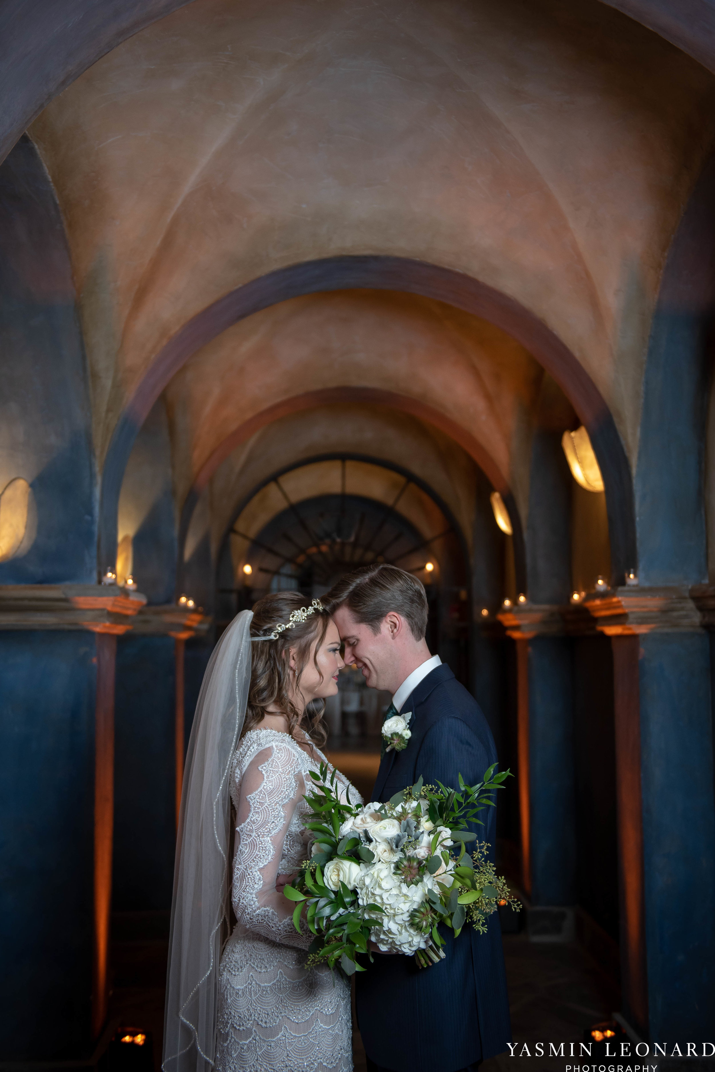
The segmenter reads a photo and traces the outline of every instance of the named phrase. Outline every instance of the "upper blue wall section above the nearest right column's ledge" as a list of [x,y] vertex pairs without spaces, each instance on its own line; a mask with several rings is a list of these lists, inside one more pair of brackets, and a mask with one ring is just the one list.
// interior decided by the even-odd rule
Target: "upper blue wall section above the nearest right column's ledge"
[[636,515],[641,584],[708,579],[703,466],[715,324],[715,158],[668,253],[643,382]]

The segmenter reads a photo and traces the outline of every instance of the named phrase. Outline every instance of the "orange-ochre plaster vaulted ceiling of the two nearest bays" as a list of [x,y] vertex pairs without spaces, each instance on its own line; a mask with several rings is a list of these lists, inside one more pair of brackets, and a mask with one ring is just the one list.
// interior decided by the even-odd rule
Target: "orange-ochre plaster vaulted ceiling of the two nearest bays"
[[[592,377],[633,461],[714,91],[596,0],[194,0],[137,33],[30,132],[66,223],[100,462],[193,315],[345,254],[429,262],[520,302]],[[369,292],[295,299],[204,346],[167,394],[180,481],[271,400],[358,385],[428,397],[518,485],[534,360],[476,317]]]

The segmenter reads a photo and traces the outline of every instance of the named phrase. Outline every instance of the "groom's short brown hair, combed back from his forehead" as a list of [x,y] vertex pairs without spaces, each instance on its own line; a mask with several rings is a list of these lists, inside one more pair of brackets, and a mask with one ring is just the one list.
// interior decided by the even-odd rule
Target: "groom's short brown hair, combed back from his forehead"
[[424,584],[405,569],[384,562],[359,566],[346,574],[328,595],[321,596],[321,602],[330,614],[338,607],[347,607],[375,634],[391,611],[401,614],[415,640],[423,640],[427,632]]

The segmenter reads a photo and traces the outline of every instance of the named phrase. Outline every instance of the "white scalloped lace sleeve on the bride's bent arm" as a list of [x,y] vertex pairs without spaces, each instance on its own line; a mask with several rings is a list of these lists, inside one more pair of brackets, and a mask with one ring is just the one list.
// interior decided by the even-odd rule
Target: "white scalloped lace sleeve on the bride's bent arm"
[[289,744],[261,748],[241,778],[233,855],[233,912],[271,941],[307,949],[313,935],[293,925],[294,905],[275,889],[283,843],[305,792],[300,759]]

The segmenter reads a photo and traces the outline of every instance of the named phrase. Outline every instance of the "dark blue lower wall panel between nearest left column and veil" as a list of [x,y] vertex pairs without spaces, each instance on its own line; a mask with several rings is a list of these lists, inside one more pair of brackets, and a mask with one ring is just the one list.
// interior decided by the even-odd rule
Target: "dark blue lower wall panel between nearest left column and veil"
[[174,819],[174,642],[117,644],[112,909],[171,907]]

